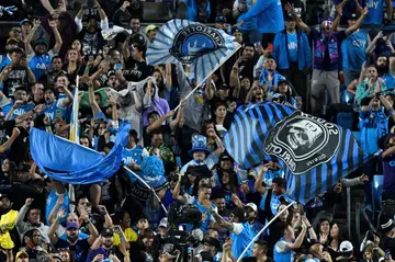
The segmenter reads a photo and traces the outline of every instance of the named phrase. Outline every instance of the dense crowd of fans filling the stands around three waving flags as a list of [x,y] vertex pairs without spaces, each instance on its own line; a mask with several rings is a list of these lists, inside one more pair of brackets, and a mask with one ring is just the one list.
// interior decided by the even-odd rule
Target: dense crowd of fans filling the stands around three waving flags
[[[24,1],[0,2],[0,20],[20,22],[0,47],[0,261],[236,261],[292,203],[275,160],[245,170],[222,143],[238,106],[269,101],[339,125],[346,125],[339,115],[356,116],[348,127],[359,130],[361,148],[382,152],[306,205],[284,210],[242,261],[395,259],[393,212],[382,213],[363,240],[336,214],[345,187],[360,185],[374,216],[377,173],[383,203],[395,200],[392,2],[335,0],[335,11],[308,26],[301,1],[212,1],[184,0],[187,16],[179,19],[214,22],[241,48],[190,96],[196,82],[188,66],[147,65],[159,27],[142,27],[139,0],[88,0],[76,15],[64,1],[42,0],[29,19],[20,18],[29,13]],[[4,9],[7,2],[19,10]],[[105,41],[102,31],[113,25],[133,33]],[[123,166],[160,201],[122,167],[100,183],[72,185],[37,168],[31,128],[68,139],[75,99],[79,144],[91,150],[109,153],[121,123],[132,123]],[[304,128],[293,127],[294,143],[314,139]],[[163,170],[155,173],[159,182],[150,183],[149,169]]]

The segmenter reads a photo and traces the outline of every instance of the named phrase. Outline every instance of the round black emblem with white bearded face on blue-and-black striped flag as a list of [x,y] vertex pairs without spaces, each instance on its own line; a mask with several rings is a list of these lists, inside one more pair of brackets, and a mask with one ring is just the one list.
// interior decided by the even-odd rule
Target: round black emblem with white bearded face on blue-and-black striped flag
[[283,160],[292,173],[302,174],[329,161],[339,144],[338,126],[296,111],[269,132],[263,150]]

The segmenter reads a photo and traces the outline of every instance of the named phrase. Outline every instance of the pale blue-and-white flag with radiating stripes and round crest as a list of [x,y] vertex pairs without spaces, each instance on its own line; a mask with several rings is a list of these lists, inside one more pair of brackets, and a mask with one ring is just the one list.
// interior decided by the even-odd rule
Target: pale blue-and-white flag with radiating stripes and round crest
[[174,19],[163,24],[148,47],[148,64],[190,65],[200,86],[241,46],[235,37],[211,26]]

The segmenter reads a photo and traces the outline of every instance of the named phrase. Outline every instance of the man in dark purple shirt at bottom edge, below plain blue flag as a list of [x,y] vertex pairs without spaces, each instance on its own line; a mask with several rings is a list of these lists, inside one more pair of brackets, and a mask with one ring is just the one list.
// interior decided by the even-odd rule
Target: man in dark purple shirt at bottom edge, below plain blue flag
[[113,254],[114,250],[114,231],[111,228],[104,228],[101,231],[101,247],[93,249],[89,252],[87,262],[95,262],[110,259],[114,262],[121,262],[116,255]]

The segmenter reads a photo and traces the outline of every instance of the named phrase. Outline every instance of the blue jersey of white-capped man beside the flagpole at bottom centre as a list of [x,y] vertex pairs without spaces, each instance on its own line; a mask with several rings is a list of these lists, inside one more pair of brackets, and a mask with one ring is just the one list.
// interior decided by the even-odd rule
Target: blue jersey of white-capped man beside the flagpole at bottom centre
[[[255,237],[255,231],[252,230],[249,223],[234,223],[234,231],[230,232],[230,239],[233,241],[232,253],[236,259],[241,255],[242,251],[252,241],[253,237]],[[252,255],[252,244],[250,246],[244,258],[251,255]]]

